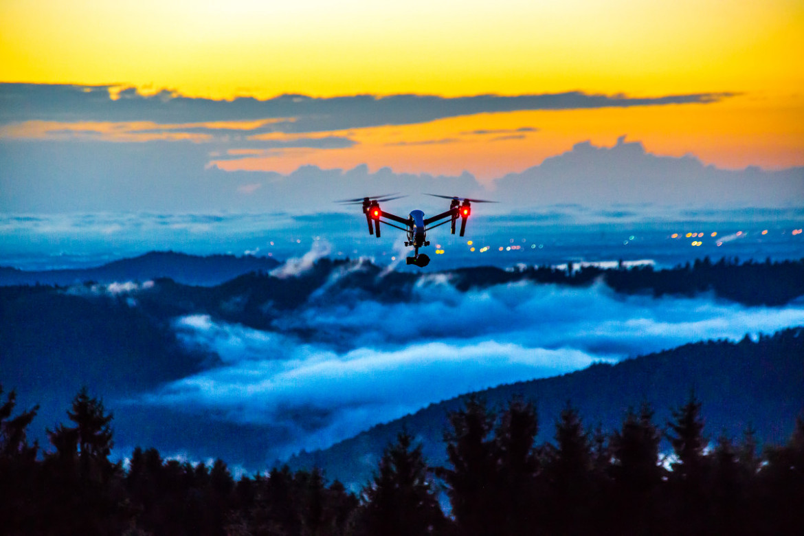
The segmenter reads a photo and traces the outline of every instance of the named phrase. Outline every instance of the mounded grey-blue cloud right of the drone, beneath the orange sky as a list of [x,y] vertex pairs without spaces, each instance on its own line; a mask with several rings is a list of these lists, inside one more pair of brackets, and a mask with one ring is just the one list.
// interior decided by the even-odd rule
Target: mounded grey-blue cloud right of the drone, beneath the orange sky
[[804,167],[723,170],[692,156],[648,153],[620,137],[613,147],[577,143],[521,173],[494,181],[494,198],[509,204],[580,203],[615,207],[653,203],[686,207],[801,207]]

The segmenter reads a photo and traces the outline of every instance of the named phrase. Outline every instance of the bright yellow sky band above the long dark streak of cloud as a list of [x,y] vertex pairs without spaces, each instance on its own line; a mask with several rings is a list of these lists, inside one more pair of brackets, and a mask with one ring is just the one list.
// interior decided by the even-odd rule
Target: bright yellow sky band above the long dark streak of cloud
[[215,98],[790,92],[804,83],[794,68],[802,2],[558,3],[4,0],[0,80]]

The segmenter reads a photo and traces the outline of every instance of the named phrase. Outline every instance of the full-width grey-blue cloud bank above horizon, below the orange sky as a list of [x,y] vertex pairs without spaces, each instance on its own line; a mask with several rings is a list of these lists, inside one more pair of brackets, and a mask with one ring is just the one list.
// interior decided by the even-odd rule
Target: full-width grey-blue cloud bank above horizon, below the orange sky
[[[351,143],[336,137],[297,140],[319,149]],[[267,141],[248,141],[248,144]],[[284,143],[284,142],[283,142]],[[408,194],[437,189],[471,198],[502,202],[486,213],[531,210],[576,203],[598,210],[622,205],[675,205],[687,211],[724,207],[804,206],[804,167],[787,170],[723,170],[693,157],[648,153],[639,142],[618,141],[612,147],[576,144],[571,150],[517,174],[482,186],[474,175],[371,172],[301,166],[275,172],[224,171],[215,159],[275,156],[290,149],[276,141],[274,149],[211,147],[191,141],[105,143],[83,141],[0,141],[0,211],[322,211],[332,201],[384,191]],[[284,148],[283,148],[284,147]],[[246,151],[246,153],[243,153]],[[248,151],[251,151],[250,153]],[[266,152],[267,151],[267,152]],[[276,153],[273,153],[276,151]],[[210,165],[210,162],[213,162]],[[70,162],[70,166],[64,166]],[[114,170],[110,173],[110,170]],[[238,189],[263,185],[244,196]],[[425,210],[426,207],[423,207]],[[658,214],[658,213],[657,213]],[[757,212],[760,215],[761,212]],[[663,216],[662,214],[658,214]]]

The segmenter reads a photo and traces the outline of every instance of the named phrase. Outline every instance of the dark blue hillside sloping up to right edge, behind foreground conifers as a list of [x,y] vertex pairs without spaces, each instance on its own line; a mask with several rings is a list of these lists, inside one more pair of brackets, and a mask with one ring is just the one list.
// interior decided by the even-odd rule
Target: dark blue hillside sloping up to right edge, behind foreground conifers
[[[674,350],[597,364],[555,378],[494,387],[478,394],[489,407],[503,407],[514,396],[535,401],[539,416],[537,443],[552,440],[555,423],[567,401],[577,407],[589,428],[618,428],[628,407],[642,401],[656,410],[663,426],[672,407],[690,389],[703,403],[704,432],[739,439],[749,425],[760,440],[781,443],[790,436],[795,417],[804,411],[804,328],[786,329],[757,342],[697,342]],[[469,395],[431,404],[413,415],[380,424],[350,440],[316,452],[301,452],[291,468],[320,467],[330,479],[363,485],[375,471],[383,449],[407,428],[424,444],[430,464],[445,464],[446,415]]]

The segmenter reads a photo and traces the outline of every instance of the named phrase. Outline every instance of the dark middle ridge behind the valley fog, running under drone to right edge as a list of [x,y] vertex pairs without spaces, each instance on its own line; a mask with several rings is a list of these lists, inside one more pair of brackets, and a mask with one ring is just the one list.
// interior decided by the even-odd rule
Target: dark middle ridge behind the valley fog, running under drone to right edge
[[[737,264],[722,259],[712,264],[704,259],[662,270],[585,267],[571,274],[549,267],[514,271],[475,267],[437,275],[445,276],[460,291],[526,280],[570,286],[588,286],[601,280],[620,293],[695,296],[709,292],[745,305],[784,305],[804,296],[804,260]],[[386,272],[366,260],[325,258],[296,276],[250,272],[212,287],[190,287],[160,279],[153,289],[137,298],[142,307],[158,317],[204,313],[255,329],[274,329],[283,311],[310,301],[332,304],[355,297],[381,303],[410,301],[414,299],[412,287],[432,277],[433,274],[416,272]],[[296,329],[297,334],[304,335]]]

